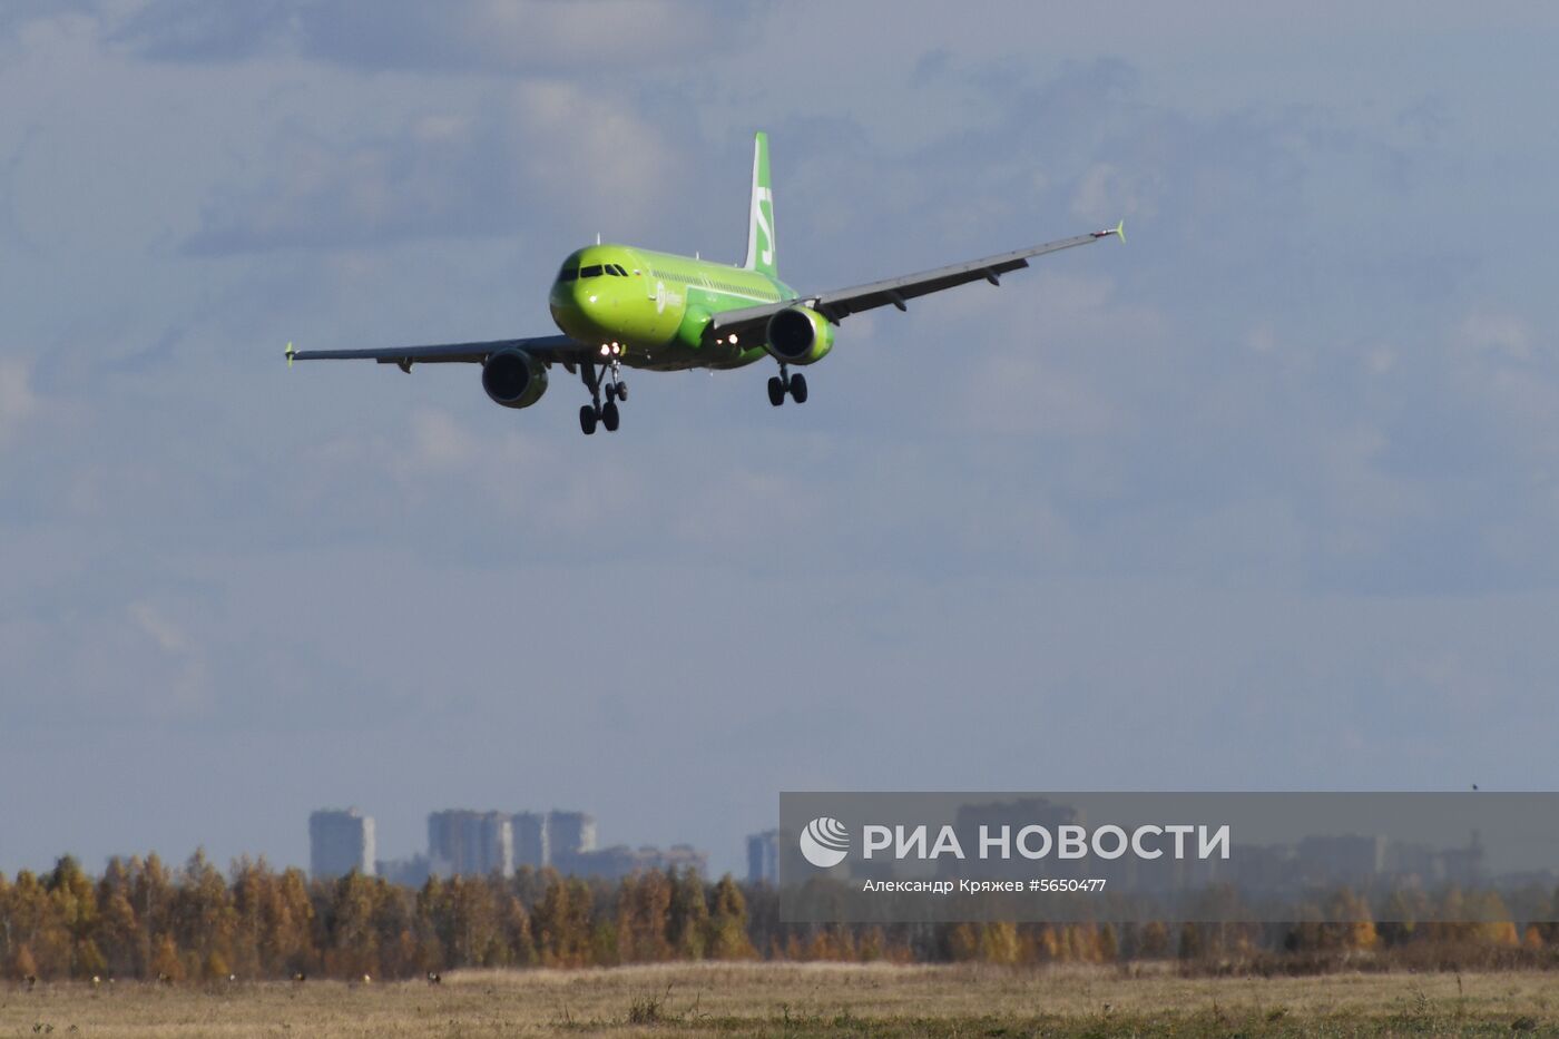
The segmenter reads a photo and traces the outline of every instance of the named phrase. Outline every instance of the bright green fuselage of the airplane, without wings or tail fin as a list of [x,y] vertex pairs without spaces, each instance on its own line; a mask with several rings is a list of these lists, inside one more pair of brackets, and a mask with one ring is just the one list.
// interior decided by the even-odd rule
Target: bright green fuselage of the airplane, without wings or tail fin
[[631,368],[677,371],[741,368],[767,357],[761,337],[706,335],[709,318],[794,298],[789,285],[756,270],[627,245],[589,245],[563,261],[549,304],[566,335],[603,346],[603,357]]

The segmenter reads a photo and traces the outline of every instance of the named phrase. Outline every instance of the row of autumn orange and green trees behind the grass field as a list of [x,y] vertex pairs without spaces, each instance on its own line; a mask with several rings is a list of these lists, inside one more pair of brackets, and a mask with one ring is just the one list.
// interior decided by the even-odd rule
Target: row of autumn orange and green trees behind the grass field
[[[790,925],[767,885],[692,871],[603,881],[521,869],[407,888],[360,874],[309,880],[263,858],[224,874],[201,852],[179,867],[157,855],[114,858],[90,877],[65,856],[42,875],[0,875],[0,966],[12,980],[164,981],[756,958],[1559,966],[1554,924],[1377,924],[1363,899],[1335,899],[1344,902],[1325,916],[1352,922]],[[1559,892],[1548,905],[1559,919]],[[1483,916],[1490,910],[1500,916],[1497,905]]]

